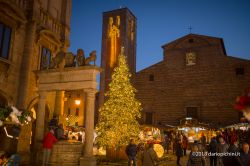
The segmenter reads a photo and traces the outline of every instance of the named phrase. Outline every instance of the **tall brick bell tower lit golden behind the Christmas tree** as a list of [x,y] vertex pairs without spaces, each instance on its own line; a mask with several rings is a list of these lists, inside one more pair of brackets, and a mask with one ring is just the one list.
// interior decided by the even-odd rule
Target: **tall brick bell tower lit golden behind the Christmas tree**
[[111,74],[117,64],[118,55],[124,47],[124,55],[130,72],[136,72],[136,17],[128,8],[103,13],[102,53],[99,106],[104,103],[104,93],[108,90]]

